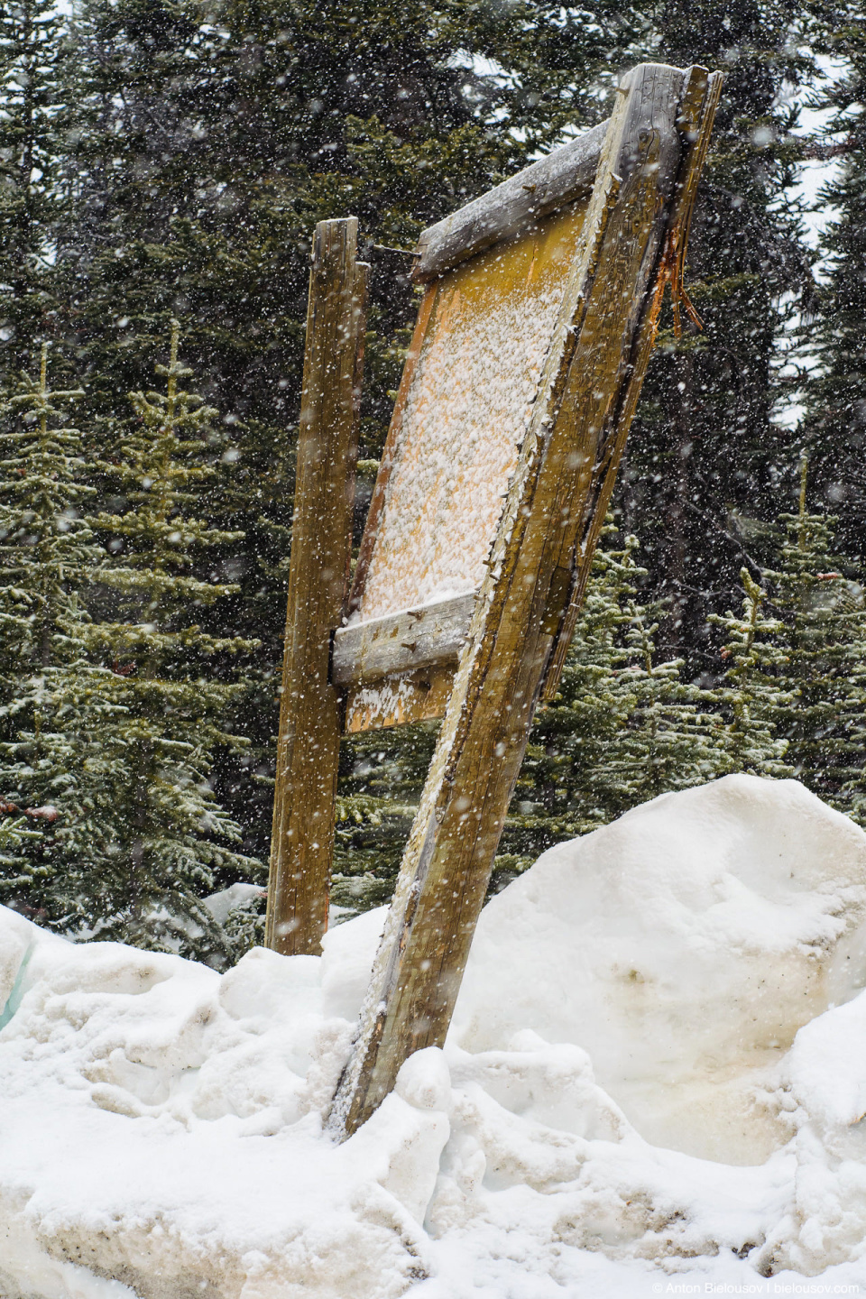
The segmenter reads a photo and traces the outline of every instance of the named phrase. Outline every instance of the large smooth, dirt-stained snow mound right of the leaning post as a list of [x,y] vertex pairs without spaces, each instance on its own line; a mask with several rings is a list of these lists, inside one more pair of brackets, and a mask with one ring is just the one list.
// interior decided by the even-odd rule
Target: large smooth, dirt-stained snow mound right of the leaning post
[[862,830],[796,781],[732,776],[552,848],[496,898],[452,1037],[574,1042],[649,1141],[757,1164],[791,1135],[770,1066],[865,985]]

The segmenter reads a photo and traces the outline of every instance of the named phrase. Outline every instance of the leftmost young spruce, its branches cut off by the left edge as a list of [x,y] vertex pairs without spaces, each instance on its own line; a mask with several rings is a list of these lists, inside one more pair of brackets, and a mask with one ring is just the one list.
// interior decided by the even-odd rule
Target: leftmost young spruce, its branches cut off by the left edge
[[87,594],[106,556],[83,517],[93,466],[68,422],[83,394],[52,392],[47,362],[43,346],[39,378],[0,405],[0,788],[8,812],[30,804],[44,826],[0,874],[5,902],[74,931],[100,916],[129,769],[116,678],[91,661]]

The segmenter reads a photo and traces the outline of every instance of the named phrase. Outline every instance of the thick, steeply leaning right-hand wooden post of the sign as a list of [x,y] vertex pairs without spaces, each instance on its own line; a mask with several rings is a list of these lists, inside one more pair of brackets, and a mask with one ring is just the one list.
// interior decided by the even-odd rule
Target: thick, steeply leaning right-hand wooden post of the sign
[[413,1051],[444,1042],[570,599],[593,469],[628,387],[682,160],[682,70],[643,65],[626,88],[335,1095],[335,1134],[373,1113]]

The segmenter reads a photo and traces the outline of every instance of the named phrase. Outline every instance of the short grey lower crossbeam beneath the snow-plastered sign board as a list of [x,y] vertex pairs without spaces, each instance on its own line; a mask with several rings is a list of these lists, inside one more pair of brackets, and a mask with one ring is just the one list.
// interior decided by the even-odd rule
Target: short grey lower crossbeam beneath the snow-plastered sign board
[[340,627],[334,637],[331,681],[361,686],[399,672],[456,664],[466,640],[475,592]]

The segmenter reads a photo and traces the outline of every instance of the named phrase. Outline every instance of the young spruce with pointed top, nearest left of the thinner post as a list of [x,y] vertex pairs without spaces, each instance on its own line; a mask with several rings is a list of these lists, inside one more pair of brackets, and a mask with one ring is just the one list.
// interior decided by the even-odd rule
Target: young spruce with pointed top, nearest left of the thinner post
[[117,598],[116,616],[95,635],[113,661],[130,769],[117,809],[123,904],[103,927],[134,944],[190,950],[192,942],[199,951],[223,947],[225,956],[200,899],[214,885],[254,874],[260,863],[229,847],[241,831],[210,785],[214,751],[244,747],[223,718],[245,688],[217,679],[212,664],[253,644],[192,621],[236,590],[196,577],[196,553],[239,538],[196,513],[223,442],[212,423],[217,412],[180,386],[192,370],[178,360],[178,336],[175,321],[169,365],[156,368],[166,392],[131,394],[138,420],[119,438],[122,460],[101,466],[129,508],[92,520],[117,555],[101,575]]

